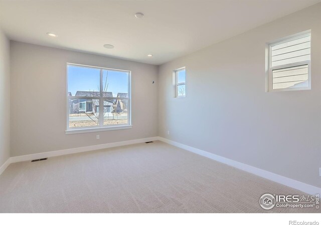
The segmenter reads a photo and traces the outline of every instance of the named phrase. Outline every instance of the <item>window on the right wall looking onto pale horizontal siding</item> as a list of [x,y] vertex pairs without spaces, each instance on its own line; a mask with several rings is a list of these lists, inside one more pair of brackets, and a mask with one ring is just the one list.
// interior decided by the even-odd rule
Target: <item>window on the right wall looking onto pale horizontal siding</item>
[[269,91],[311,89],[311,33],[269,45]]

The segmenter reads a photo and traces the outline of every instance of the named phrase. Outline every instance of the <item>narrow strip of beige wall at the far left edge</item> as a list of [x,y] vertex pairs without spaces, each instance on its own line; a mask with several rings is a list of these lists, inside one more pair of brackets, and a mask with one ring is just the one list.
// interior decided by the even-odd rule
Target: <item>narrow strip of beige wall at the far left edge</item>
[[10,157],[10,45],[0,30],[0,166]]

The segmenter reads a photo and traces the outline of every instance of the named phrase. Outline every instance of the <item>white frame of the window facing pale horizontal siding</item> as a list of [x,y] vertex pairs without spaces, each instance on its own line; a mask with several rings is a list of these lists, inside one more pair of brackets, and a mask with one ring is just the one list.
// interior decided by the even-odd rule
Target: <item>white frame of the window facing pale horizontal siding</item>
[[[289,63],[281,66],[274,66],[272,67],[271,63],[271,52],[272,47],[275,45],[279,45],[282,43],[286,43],[289,41],[293,41],[299,38],[306,37],[308,35],[311,35],[311,49],[312,49],[312,34],[311,30],[304,31],[295,35],[287,36],[282,39],[278,39],[275,42],[267,43],[265,48],[265,58],[266,58],[266,67],[265,67],[265,92],[280,92],[280,91],[299,91],[299,90],[311,90],[311,60],[308,61],[302,61],[297,63]],[[312,56],[312,54],[311,54]],[[280,88],[280,89],[273,89],[273,74],[272,70],[277,69],[283,69],[283,68],[289,68],[289,67],[296,67],[296,66],[303,66],[307,65],[308,68],[308,74],[307,74],[307,87],[297,87],[297,88]]]

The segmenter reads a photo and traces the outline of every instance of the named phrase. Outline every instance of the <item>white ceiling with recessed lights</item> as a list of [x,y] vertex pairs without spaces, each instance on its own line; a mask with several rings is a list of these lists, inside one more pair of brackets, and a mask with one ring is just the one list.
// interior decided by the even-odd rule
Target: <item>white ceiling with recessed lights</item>
[[11,40],[160,65],[318,2],[0,0],[0,25]]

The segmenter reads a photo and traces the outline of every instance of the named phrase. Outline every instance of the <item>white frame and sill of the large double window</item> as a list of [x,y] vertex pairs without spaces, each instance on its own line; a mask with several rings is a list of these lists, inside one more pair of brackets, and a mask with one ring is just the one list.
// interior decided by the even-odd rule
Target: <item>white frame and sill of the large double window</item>
[[[100,70],[100,88],[99,97],[88,97],[88,96],[69,96],[68,95],[68,66],[75,66],[75,67],[83,67],[83,68],[94,68]],[[126,72],[128,74],[128,97],[104,97],[103,96],[103,70],[109,70],[109,71],[118,71],[118,72]],[[131,71],[129,70],[119,70],[119,69],[111,69],[111,68],[105,68],[105,67],[98,67],[98,66],[88,66],[88,65],[81,65],[81,64],[75,64],[75,63],[67,63],[66,64],[66,78],[67,78],[67,84],[66,84],[66,96],[67,96],[67,109],[66,109],[66,116],[67,116],[67,127],[65,130],[65,134],[77,134],[77,133],[88,133],[88,132],[98,132],[98,131],[108,131],[108,130],[121,130],[121,129],[130,129],[132,128],[131,124]],[[88,126],[88,127],[69,127],[69,100],[70,99],[98,99],[99,100],[99,114],[98,114],[98,125],[97,126]],[[103,102],[104,100],[127,100],[127,124],[120,124],[120,125],[104,125],[104,119],[103,119]],[[100,112],[102,111],[102,112]]]

